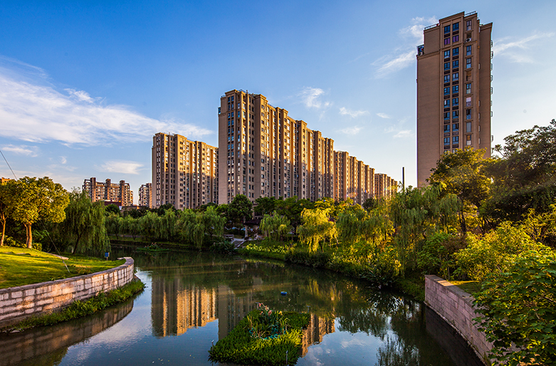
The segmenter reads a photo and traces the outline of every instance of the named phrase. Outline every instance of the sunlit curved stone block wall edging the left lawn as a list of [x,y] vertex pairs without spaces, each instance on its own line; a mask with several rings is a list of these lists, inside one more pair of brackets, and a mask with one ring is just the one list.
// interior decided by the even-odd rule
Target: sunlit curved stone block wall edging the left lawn
[[130,283],[134,277],[133,258],[106,271],[56,281],[0,289],[0,328],[19,323],[28,316],[51,312],[75,300],[92,298]]

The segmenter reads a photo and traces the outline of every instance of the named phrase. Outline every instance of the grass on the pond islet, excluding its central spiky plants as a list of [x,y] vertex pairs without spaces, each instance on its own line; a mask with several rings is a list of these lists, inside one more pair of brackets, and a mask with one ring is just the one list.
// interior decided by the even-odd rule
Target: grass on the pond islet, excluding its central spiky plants
[[[250,321],[263,324],[261,310],[251,311],[243,318],[226,338],[219,340],[209,350],[212,362],[234,362],[241,365],[295,365],[301,347],[302,328],[309,323],[309,315],[301,313],[284,313],[287,318],[287,330],[276,338],[253,338],[249,333]],[[265,315],[262,315],[265,318]],[[288,362],[286,363],[286,354]]]

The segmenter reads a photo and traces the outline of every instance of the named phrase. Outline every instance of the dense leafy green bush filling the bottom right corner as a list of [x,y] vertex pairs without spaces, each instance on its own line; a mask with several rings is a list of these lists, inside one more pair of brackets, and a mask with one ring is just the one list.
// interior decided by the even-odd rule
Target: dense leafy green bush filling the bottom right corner
[[554,253],[521,253],[508,271],[488,276],[475,298],[478,324],[500,365],[556,364]]

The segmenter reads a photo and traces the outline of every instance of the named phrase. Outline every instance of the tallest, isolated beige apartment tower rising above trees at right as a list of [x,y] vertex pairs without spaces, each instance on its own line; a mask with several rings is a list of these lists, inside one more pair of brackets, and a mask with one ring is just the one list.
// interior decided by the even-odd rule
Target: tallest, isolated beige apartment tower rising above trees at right
[[424,29],[417,47],[417,184],[441,154],[473,147],[491,156],[491,31],[475,11]]

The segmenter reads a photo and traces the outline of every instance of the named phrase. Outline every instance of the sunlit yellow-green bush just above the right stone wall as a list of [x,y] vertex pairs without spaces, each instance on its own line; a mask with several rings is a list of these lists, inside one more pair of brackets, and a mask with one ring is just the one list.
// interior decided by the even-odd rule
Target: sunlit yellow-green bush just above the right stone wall
[[468,235],[468,246],[458,251],[456,257],[458,276],[483,281],[489,273],[508,270],[523,251],[545,251],[546,246],[535,243],[522,226],[506,221],[482,238]]

